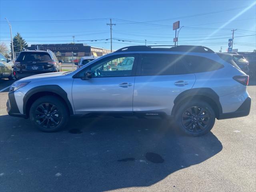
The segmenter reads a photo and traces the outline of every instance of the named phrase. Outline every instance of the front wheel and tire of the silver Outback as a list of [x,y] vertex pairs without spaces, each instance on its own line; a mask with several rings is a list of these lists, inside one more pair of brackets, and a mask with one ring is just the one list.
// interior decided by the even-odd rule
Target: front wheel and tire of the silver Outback
[[32,124],[43,132],[59,131],[69,119],[67,107],[56,96],[37,99],[30,108],[29,116]]

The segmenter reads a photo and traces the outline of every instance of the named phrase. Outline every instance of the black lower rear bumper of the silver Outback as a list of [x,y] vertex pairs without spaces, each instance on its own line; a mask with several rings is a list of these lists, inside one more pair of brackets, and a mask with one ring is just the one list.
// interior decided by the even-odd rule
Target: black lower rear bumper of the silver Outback
[[235,111],[231,113],[222,113],[219,115],[218,119],[230,119],[236,117],[248,116],[251,108],[251,98],[248,96],[242,105]]

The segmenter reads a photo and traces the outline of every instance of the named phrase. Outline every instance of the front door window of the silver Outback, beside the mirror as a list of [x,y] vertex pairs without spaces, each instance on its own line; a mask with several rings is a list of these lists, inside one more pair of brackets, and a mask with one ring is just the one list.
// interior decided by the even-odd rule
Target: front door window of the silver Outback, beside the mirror
[[[104,59],[103,61],[98,61],[86,67],[82,72],[78,74],[78,77],[83,77],[84,73],[88,70],[92,72],[93,78],[132,76],[134,58],[135,58],[134,56],[129,56],[129,57],[119,56],[119,57],[112,57],[110,59]],[[122,67],[122,68],[119,67],[119,66],[122,66],[122,62],[127,59],[130,60],[129,66]]]

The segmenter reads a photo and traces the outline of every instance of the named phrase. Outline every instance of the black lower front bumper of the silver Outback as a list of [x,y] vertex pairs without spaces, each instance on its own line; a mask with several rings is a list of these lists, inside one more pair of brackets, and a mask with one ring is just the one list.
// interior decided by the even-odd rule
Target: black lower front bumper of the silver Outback
[[8,93],[8,100],[6,103],[7,112],[10,116],[28,118],[26,114],[21,114],[14,96],[14,91]]

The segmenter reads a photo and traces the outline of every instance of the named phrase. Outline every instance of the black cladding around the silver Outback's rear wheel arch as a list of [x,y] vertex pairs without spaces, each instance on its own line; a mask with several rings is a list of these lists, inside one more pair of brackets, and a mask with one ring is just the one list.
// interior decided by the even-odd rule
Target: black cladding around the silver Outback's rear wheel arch
[[[206,102],[210,102],[210,106],[212,106],[214,112],[216,113],[216,117],[218,118],[219,114],[222,114],[222,106],[220,104],[220,98],[214,90],[211,88],[192,88],[189,90],[186,90],[182,93],[180,93],[175,99],[174,99],[174,107],[172,108],[171,115],[175,116],[175,112],[178,109],[179,104],[181,101],[186,101],[188,99],[193,98],[205,98]],[[207,101],[207,99],[209,101]]]

